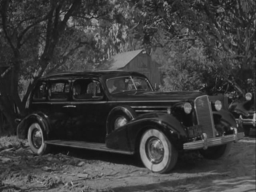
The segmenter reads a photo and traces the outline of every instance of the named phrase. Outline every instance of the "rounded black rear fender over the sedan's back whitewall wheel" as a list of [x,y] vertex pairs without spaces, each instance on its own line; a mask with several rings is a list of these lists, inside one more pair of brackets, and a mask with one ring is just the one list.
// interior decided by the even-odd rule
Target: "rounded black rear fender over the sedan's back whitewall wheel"
[[17,136],[20,139],[25,139],[28,134],[29,126],[37,122],[40,124],[41,128],[44,130],[43,136],[45,139],[48,138],[50,132],[50,124],[48,121],[48,117],[42,112],[32,113],[26,116],[17,126]]

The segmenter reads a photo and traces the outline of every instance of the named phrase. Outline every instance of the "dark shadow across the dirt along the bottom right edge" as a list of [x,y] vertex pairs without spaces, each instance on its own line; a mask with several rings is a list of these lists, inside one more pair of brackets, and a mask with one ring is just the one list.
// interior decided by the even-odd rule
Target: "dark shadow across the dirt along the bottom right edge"
[[175,181],[166,180],[158,183],[116,187],[112,188],[112,190],[115,192],[231,192],[234,189],[239,192],[255,191],[255,177],[253,176],[233,179],[222,176],[208,176],[208,182],[202,182],[203,177],[204,176],[199,176]]

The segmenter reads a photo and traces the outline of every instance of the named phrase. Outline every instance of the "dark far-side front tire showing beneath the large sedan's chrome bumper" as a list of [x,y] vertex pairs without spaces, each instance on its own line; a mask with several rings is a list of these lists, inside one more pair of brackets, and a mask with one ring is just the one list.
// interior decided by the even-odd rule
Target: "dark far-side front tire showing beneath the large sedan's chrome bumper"
[[209,147],[206,150],[200,150],[202,156],[206,159],[217,160],[228,156],[232,143]]

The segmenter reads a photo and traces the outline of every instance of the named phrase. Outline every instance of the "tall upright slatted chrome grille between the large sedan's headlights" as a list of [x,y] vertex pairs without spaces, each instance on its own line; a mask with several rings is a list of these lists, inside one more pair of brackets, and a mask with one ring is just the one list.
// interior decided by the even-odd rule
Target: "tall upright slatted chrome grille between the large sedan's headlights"
[[212,107],[207,95],[195,99],[195,109],[198,124],[202,126],[202,133],[206,133],[208,138],[215,137]]

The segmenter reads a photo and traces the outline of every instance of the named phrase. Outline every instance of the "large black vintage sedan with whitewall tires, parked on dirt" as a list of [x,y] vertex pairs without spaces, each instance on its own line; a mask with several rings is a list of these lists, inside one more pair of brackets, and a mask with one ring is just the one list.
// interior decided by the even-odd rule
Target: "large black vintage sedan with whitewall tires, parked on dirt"
[[202,92],[154,92],[137,72],[64,72],[38,80],[17,134],[38,155],[52,145],[139,154],[152,172],[165,173],[179,151],[218,159],[244,136],[221,107]]

